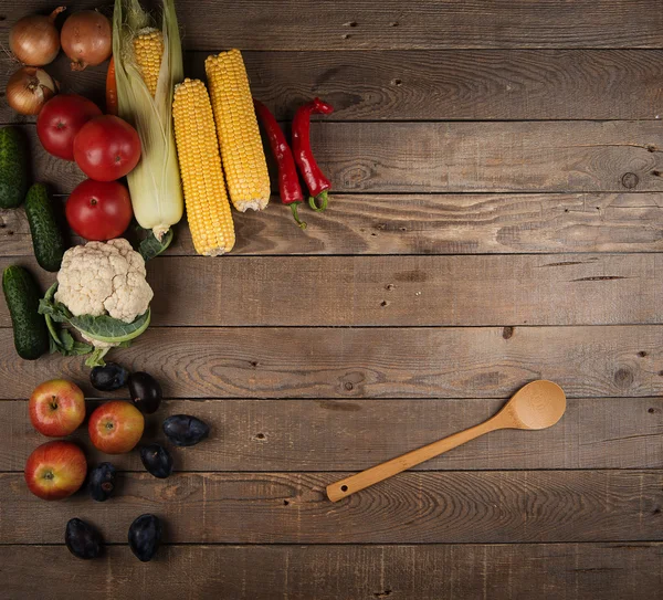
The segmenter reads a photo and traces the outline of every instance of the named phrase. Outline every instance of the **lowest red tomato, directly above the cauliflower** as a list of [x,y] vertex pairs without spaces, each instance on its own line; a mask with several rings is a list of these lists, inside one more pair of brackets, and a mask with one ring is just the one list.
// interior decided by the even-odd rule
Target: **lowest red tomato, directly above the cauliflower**
[[86,179],[67,198],[65,214],[78,235],[104,242],[119,238],[134,213],[129,191],[122,183]]

